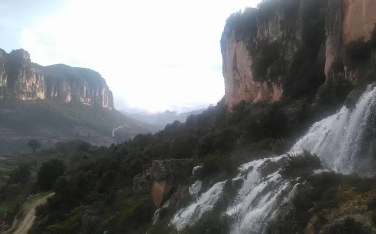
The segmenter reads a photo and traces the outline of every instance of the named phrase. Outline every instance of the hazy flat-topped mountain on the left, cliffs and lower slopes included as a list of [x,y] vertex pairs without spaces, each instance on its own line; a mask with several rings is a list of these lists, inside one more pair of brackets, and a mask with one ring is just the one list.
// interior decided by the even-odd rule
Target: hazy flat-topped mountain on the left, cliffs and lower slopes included
[[[114,138],[113,130],[121,129]],[[38,138],[48,146],[79,138],[98,145],[157,128],[114,109],[112,92],[93,70],[32,63],[23,49],[0,49],[0,154]]]

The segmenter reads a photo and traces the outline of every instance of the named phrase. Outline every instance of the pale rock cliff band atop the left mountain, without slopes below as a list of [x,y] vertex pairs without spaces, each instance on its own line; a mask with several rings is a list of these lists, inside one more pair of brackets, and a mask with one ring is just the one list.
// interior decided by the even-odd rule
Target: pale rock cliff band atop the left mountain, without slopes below
[[95,71],[63,64],[42,67],[24,50],[0,50],[0,98],[22,100],[77,100],[113,109],[113,97],[104,78]]

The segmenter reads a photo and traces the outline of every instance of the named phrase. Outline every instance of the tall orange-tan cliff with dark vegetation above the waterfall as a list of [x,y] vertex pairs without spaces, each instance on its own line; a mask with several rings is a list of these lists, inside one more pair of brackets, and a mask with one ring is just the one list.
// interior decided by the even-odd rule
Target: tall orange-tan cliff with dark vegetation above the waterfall
[[222,39],[225,100],[279,101],[375,71],[376,1],[269,0],[234,13]]

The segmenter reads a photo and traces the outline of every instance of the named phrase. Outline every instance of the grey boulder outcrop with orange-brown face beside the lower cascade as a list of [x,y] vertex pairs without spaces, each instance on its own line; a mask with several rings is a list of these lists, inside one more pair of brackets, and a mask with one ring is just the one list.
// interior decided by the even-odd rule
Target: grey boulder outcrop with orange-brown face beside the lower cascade
[[193,159],[153,160],[151,167],[133,177],[136,193],[150,193],[154,204],[160,207],[176,192],[177,186],[192,175]]

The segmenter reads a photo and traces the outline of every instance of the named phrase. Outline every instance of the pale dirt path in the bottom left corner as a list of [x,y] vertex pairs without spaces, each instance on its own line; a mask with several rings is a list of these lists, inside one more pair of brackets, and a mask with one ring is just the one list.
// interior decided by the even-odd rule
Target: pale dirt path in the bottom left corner
[[[53,196],[55,193],[51,193],[42,197],[39,197],[37,199],[32,199],[29,201],[26,201],[23,204],[23,210],[25,211],[25,215],[23,216],[23,219],[21,223],[18,223],[18,220],[16,219],[13,227],[9,229],[8,231],[4,232],[4,234],[27,234],[31,227],[33,226],[34,220],[36,218],[35,216],[35,208],[37,206],[46,203],[47,198]],[[13,231],[14,230],[14,231]]]

